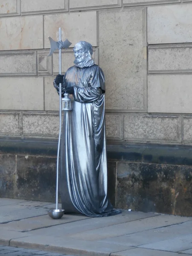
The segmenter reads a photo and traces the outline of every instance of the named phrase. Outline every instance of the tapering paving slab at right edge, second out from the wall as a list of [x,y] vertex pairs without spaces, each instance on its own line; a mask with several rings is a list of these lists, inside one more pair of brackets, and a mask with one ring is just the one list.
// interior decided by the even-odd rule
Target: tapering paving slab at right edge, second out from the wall
[[169,227],[161,227],[157,229],[142,231],[125,236],[101,239],[99,242],[110,244],[122,244],[129,246],[139,246],[153,242],[163,241],[167,239],[177,238],[179,236],[192,234],[192,221],[183,224],[176,224]]

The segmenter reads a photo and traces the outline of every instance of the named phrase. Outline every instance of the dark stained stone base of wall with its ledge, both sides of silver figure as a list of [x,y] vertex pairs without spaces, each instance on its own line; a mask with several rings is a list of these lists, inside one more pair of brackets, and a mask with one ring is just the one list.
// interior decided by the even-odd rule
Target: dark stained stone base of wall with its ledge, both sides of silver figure
[[[0,140],[0,197],[55,201],[57,142]],[[108,145],[114,207],[192,216],[192,149]]]

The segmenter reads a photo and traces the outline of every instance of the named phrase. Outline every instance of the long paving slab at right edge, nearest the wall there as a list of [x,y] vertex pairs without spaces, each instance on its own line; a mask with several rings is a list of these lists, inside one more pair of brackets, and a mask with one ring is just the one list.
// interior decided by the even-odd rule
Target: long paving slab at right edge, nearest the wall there
[[166,227],[173,224],[179,224],[184,221],[192,220],[188,217],[158,215],[155,217],[145,218],[137,221],[116,224],[109,227],[97,228],[85,232],[76,232],[71,237],[82,240],[100,240],[110,237],[123,236],[131,233],[151,230],[158,227]]

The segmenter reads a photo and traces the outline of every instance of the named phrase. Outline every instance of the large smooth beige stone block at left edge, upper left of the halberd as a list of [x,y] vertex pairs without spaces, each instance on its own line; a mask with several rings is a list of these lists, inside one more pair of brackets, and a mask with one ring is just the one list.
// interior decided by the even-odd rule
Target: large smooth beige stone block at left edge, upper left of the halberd
[[4,17],[1,28],[1,51],[43,48],[42,15]]

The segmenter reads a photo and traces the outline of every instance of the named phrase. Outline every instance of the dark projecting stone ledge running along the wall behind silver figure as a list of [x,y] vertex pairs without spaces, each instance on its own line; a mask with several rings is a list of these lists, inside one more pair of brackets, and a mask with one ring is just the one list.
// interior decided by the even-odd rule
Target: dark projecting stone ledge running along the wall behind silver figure
[[[57,139],[0,138],[0,154],[31,154],[55,157]],[[129,144],[107,145],[108,160],[172,165],[192,165],[189,145]]]

